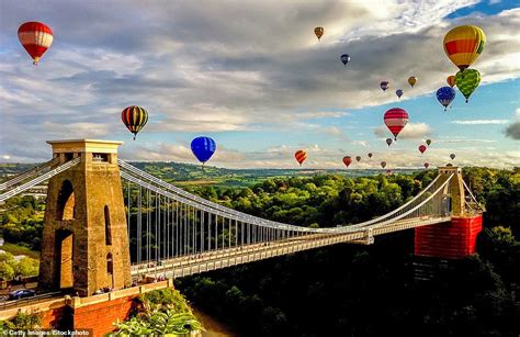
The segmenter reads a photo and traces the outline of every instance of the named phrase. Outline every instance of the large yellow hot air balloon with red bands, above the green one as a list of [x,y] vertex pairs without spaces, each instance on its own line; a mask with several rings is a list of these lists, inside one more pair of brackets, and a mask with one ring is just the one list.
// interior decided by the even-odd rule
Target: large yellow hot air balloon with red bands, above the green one
[[486,35],[474,25],[454,27],[444,36],[444,52],[451,61],[464,71],[481,55],[486,44]]

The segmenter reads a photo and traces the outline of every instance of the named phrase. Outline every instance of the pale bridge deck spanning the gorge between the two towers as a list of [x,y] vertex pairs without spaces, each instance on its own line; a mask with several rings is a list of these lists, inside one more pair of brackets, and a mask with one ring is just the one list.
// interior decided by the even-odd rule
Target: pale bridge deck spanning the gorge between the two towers
[[[376,236],[450,221],[451,216],[422,216],[399,220],[380,227],[372,225],[369,228],[360,228],[359,232],[296,236],[276,241],[250,244],[196,255],[185,255],[173,259],[161,260],[160,265],[157,265],[155,261],[133,265],[131,272],[134,280],[140,280],[146,277],[176,279],[340,243],[369,245],[372,244],[372,241],[371,238],[366,237],[368,229],[371,229],[372,235]],[[151,263],[154,263],[154,266],[150,266]]]

